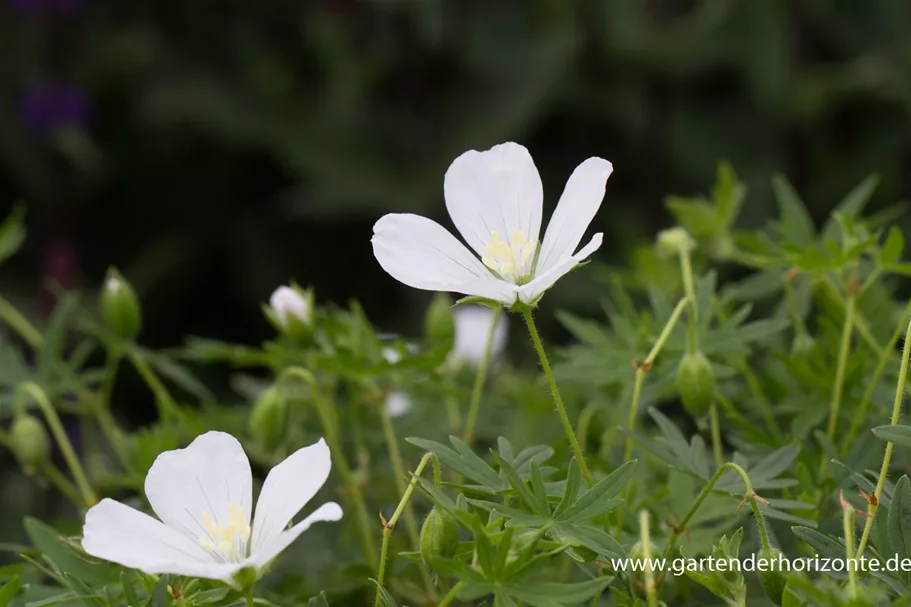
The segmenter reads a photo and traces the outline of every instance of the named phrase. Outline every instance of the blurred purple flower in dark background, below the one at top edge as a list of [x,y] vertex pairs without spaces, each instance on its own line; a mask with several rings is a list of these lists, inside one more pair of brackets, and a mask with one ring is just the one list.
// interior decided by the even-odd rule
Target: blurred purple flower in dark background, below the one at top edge
[[85,93],[76,87],[39,84],[25,91],[21,111],[22,122],[29,130],[47,136],[85,125],[91,104]]

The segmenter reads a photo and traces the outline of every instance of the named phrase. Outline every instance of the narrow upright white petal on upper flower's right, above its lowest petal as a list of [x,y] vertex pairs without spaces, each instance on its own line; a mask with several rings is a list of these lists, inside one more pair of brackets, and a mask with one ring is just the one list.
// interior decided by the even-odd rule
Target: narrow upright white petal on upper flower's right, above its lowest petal
[[582,235],[601,207],[611,171],[613,166],[603,158],[589,158],[570,175],[541,242],[536,276],[569,258],[579,246]]

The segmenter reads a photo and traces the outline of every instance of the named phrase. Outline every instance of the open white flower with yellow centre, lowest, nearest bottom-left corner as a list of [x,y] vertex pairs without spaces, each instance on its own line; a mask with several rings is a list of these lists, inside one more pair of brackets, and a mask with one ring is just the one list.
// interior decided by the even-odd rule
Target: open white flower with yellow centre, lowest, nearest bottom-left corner
[[323,440],[273,468],[253,511],[253,477],[240,443],[208,432],[186,449],[158,456],[145,493],[158,519],[104,499],[85,516],[82,547],[97,558],[145,573],[221,580],[252,568],[257,577],[313,523],[337,521],[342,509],[327,502],[301,522],[291,519],[326,482],[331,461]]

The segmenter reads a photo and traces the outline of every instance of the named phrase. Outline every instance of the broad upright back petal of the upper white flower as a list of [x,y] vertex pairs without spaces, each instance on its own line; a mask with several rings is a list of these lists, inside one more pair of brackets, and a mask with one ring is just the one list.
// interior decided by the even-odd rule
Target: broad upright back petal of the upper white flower
[[528,150],[517,143],[456,158],[446,171],[443,195],[456,228],[482,257],[494,231],[503,240],[511,239],[512,230],[529,240],[541,232],[541,177]]

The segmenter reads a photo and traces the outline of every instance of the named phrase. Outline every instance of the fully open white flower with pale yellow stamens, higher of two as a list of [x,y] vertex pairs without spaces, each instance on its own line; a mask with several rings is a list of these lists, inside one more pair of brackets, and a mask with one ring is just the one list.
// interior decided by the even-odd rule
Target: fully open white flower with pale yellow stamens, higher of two
[[543,190],[528,150],[504,143],[465,152],[446,171],[443,194],[474,253],[426,217],[393,213],[373,227],[373,254],[393,278],[416,289],[533,305],[601,246],[599,233],[573,253],[612,170],[601,158],[576,167],[539,246]]

